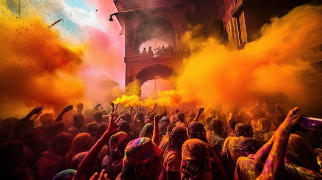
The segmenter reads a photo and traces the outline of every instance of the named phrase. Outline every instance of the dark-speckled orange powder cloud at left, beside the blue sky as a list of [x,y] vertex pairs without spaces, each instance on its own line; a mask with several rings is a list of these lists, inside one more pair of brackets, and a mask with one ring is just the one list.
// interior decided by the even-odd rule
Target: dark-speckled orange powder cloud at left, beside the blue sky
[[81,97],[82,81],[74,73],[82,49],[62,43],[40,17],[16,17],[4,1],[0,8],[0,118],[24,116],[35,106],[61,111]]

